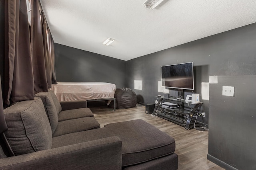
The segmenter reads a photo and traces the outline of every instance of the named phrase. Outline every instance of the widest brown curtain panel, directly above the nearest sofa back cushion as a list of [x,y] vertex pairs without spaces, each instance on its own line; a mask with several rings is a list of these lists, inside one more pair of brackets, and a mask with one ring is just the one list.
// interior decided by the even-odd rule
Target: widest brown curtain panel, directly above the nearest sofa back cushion
[[26,0],[4,0],[4,102],[34,99]]

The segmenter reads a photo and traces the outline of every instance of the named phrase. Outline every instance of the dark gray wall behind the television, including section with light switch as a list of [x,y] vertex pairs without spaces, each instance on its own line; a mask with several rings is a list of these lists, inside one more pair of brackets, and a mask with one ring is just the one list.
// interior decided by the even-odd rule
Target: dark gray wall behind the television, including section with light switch
[[[134,80],[142,80],[142,90],[134,90],[138,102],[154,103],[154,96],[162,94],[160,67],[190,61],[195,93],[201,94],[201,82],[209,82],[209,76],[219,77],[210,84],[210,100],[202,100],[208,159],[226,169],[256,169],[256,23],[127,61],[127,86],[134,90]],[[235,96],[222,96],[222,86],[234,86]],[[184,96],[189,93],[184,90]],[[173,90],[170,94],[176,95]]]

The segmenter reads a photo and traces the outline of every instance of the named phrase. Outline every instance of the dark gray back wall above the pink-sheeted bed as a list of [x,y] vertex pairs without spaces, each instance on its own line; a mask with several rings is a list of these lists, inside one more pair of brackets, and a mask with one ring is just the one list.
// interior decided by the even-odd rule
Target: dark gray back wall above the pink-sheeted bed
[[112,57],[54,44],[58,82],[108,82],[125,86],[126,62]]

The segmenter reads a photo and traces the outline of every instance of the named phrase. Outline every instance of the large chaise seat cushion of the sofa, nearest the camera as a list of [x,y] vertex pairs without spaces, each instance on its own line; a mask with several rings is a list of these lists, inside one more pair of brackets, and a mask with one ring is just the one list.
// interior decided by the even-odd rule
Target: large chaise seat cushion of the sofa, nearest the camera
[[111,123],[100,129],[54,137],[52,147],[112,136],[122,140],[122,166],[147,162],[175,151],[175,141],[172,137],[141,119]]

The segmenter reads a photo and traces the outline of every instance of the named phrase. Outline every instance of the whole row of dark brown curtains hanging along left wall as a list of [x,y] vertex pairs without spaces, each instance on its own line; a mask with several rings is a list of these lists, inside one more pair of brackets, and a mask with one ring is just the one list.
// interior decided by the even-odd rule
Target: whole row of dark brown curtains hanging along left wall
[[[1,43],[3,54],[0,55],[4,63],[0,64],[3,76],[3,87],[0,89],[2,133],[7,129],[3,109],[13,102],[34,99],[34,94],[38,92],[48,92],[52,82],[56,83],[56,78],[54,42],[44,18],[41,25],[39,0],[31,0],[31,28],[26,0],[0,0],[0,5],[1,14],[4,14],[0,25],[4,29],[1,31],[1,37],[4,37],[4,45]],[[45,31],[42,31],[43,25]]]

